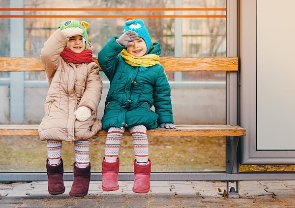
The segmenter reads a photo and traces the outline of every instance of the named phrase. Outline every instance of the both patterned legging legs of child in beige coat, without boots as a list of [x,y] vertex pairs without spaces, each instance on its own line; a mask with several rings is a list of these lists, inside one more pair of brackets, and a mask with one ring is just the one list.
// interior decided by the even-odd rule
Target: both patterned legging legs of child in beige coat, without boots
[[[47,140],[47,157],[52,165],[58,164],[61,158],[62,142],[57,140]],[[77,166],[80,168],[88,167],[89,161],[89,140],[75,141],[75,158]]]

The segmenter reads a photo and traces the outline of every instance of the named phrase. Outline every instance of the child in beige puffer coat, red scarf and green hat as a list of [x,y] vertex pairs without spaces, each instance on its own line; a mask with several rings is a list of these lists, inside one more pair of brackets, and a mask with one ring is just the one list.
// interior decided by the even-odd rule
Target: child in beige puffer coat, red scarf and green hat
[[62,141],[73,141],[76,162],[71,196],[85,196],[90,182],[89,139],[102,129],[96,118],[102,80],[88,42],[88,23],[62,22],[41,49],[49,82],[45,117],[38,132],[47,141],[48,192],[64,192]]

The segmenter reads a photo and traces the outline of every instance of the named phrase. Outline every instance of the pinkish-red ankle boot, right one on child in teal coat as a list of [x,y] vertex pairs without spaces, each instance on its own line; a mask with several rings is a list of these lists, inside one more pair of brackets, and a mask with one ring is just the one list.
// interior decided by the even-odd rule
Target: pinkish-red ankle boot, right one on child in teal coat
[[132,191],[135,193],[147,193],[150,191],[151,160],[146,165],[139,165],[134,160],[134,184]]

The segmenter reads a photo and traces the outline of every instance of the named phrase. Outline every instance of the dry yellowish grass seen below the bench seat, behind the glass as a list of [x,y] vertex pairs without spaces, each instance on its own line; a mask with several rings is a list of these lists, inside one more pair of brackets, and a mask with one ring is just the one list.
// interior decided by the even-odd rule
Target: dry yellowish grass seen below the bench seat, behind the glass
[[[105,137],[90,140],[92,171],[101,171]],[[46,142],[38,136],[0,138],[1,172],[45,172]],[[149,137],[149,153],[154,172],[225,171],[224,137]],[[123,137],[119,153],[120,171],[133,171],[133,143]],[[62,146],[64,170],[72,171],[75,162],[73,144]],[[240,171],[295,170],[295,165],[241,165]]]

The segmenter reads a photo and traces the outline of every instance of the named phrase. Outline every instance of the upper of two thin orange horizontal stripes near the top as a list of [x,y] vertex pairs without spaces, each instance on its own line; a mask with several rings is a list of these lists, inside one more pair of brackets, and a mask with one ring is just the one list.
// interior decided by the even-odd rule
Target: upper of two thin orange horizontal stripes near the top
[[0,11],[226,11],[226,8],[0,8]]

